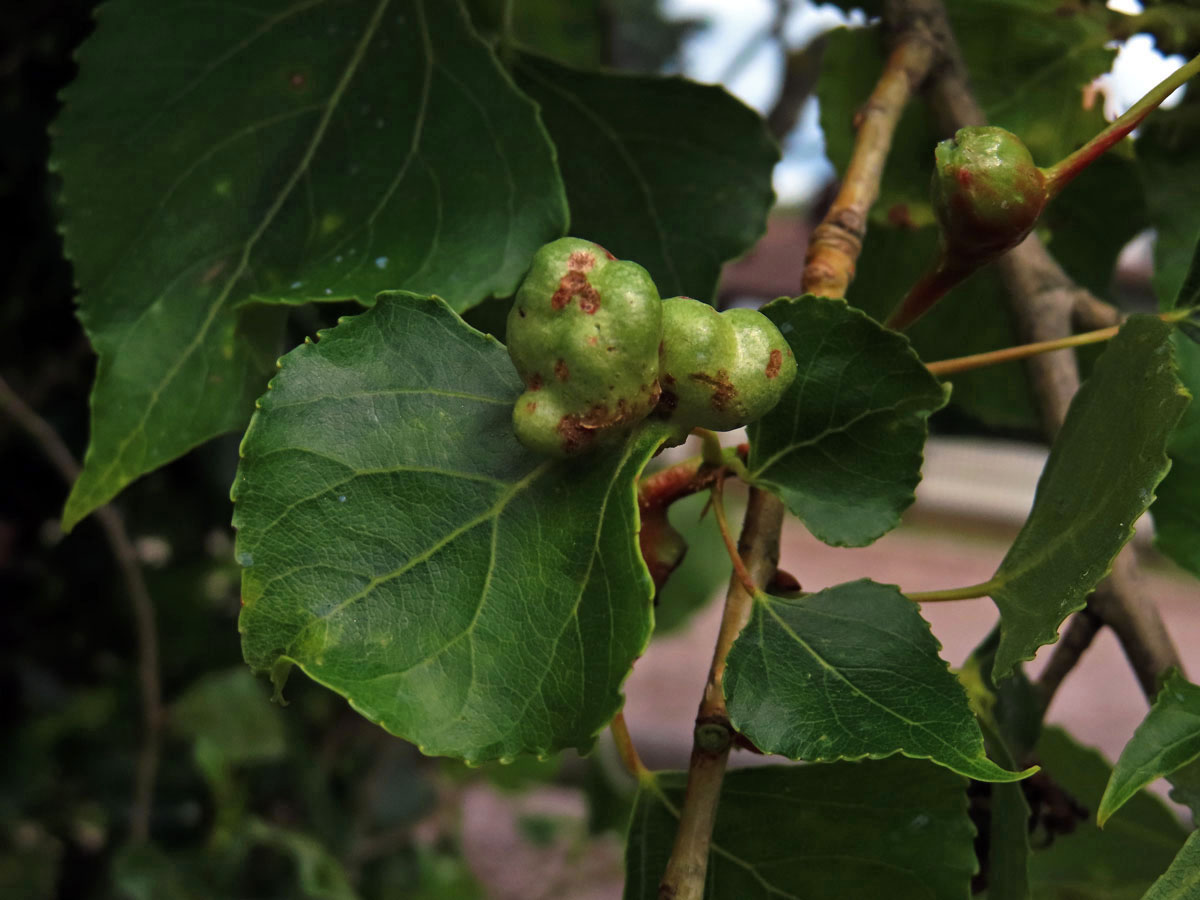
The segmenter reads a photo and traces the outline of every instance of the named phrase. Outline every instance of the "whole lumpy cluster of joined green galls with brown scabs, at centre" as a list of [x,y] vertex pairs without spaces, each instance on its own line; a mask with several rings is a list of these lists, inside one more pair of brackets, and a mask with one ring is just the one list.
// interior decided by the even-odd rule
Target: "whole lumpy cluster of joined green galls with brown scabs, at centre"
[[508,325],[526,391],[512,427],[530,450],[569,457],[623,440],[655,415],[682,440],[768,413],[796,376],[779,329],[754,310],[659,299],[647,271],[563,238],[538,251]]

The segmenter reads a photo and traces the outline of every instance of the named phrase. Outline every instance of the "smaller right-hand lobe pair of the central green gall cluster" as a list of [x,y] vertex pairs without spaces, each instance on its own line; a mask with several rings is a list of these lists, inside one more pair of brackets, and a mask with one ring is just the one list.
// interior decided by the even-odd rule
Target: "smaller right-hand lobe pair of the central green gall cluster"
[[685,433],[761,419],[796,378],[792,348],[756,310],[718,312],[686,296],[662,301],[659,413]]

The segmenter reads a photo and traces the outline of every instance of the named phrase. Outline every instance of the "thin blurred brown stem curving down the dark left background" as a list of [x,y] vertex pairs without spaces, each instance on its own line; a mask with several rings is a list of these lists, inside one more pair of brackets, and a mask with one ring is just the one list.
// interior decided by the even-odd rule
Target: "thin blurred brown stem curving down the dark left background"
[[[8,383],[0,378],[0,409],[37,444],[42,455],[71,485],[79,476],[79,464],[67,445],[42,416],[35,413],[17,395]],[[144,842],[150,835],[150,808],[154,785],[158,774],[158,752],[162,726],[162,689],[158,679],[158,630],[155,623],[154,600],[142,577],[138,553],[125,530],[120,514],[112,505],[96,510],[108,546],[125,581],[138,647],[138,680],[142,691],[142,745],[133,776],[133,799],[130,808],[130,838]]]

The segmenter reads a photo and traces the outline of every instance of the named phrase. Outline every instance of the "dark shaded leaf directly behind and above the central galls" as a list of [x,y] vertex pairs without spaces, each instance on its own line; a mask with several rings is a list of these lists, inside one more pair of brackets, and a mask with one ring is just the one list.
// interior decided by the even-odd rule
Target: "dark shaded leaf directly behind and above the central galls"
[[587,72],[520,54],[517,84],[558,148],[571,233],[713,300],[721,264],[767,229],[779,148],[757,113],[683,78]]

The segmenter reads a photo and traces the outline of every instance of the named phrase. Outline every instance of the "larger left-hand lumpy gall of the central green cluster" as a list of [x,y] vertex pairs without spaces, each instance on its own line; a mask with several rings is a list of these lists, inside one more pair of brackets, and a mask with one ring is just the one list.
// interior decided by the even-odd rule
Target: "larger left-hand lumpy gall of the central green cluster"
[[642,266],[577,238],[544,246],[509,312],[509,356],[526,385],[517,439],[568,457],[625,437],[659,400],[661,331]]

